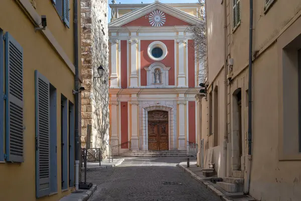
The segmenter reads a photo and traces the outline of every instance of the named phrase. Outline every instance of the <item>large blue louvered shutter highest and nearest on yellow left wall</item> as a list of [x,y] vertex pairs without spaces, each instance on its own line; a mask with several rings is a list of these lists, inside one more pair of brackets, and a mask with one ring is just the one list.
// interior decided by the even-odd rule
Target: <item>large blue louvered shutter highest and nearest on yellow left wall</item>
[[7,161],[24,162],[23,49],[6,33],[6,156]]

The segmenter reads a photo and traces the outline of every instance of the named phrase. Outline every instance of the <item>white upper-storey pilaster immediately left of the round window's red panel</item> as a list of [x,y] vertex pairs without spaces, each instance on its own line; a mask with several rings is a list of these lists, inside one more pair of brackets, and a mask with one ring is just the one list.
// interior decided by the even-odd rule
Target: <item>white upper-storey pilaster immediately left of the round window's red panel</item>
[[[136,33],[131,33],[132,35],[136,35]],[[129,39],[130,44],[130,88],[138,87],[138,75],[137,75],[137,45],[138,39]]]

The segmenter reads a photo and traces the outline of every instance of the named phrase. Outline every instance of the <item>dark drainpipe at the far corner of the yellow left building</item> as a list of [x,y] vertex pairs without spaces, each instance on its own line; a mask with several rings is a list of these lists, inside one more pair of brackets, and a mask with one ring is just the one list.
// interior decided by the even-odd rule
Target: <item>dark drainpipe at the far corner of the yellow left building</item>
[[[74,66],[75,66],[75,89],[79,88],[79,69],[78,69],[78,9],[77,9],[77,1],[74,0],[73,3],[73,11],[74,11]],[[79,94],[75,93],[75,189],[78,190],[78,182],[79,182]]]

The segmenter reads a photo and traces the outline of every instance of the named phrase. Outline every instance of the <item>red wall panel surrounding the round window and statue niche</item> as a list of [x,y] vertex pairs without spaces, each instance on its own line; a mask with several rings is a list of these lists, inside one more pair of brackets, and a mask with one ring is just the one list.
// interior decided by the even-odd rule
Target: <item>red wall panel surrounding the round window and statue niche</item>
[[[147,47],[150,43],[154,42],[155,40],[141,40],[140,41],[140,82],[141,86],[147,85],[147,74],[144,67],[150,66],[150,64],[155,63],[150,59],[147,55]],[[175,40],[159,40],[164,43],[167,47],[167,56],[159,61],[163,63],[166,67],[171,67],[168,72],[168,84],[175,85]]]

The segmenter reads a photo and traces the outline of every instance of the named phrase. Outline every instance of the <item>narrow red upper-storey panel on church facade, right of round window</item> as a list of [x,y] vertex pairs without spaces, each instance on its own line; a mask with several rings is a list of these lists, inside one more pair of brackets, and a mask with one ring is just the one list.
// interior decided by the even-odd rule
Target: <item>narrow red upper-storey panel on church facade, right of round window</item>
[[195,87],[194,40],[188,40],[188,87]]

